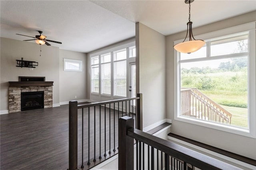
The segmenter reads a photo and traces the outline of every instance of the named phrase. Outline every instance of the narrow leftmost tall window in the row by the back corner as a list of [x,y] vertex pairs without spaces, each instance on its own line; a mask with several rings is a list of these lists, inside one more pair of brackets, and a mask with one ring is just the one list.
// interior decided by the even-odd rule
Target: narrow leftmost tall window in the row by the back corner
[[99,93],[99,57],[91,57],[91,92]]

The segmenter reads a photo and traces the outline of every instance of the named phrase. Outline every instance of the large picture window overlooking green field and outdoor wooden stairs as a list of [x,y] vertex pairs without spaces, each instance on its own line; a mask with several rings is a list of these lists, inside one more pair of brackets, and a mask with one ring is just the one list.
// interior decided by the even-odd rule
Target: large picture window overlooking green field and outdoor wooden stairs
[[255,50],[249,50],[250,43],[255,44],[255,32],[245,31],[208,39],[195,53],[175,52],[175,119],[255,137]]

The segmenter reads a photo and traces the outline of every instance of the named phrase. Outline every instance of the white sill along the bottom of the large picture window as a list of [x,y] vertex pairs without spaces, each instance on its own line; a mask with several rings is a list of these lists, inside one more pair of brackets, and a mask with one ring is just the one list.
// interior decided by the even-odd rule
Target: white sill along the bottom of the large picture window
[[208,127],[208,128],[216,129],[219,131],[225,131],[228,133],[234,133],[236,135],[242,135],[242,136],[246,136],[254,139],[256,138],[256,134],[250,133],[249,129],[243,129],[239,127],[234,127],[234,126],[229,126],[229,125],[224,125],[224,124],[219,124],[219,123],[214,123],[209,121],[203,121],[203,120],[193,119],[190,117],[183,117],[183,116],[178,116],[178,117],[175,116],[174,120],[191,123],[191,124],[199,125],[203,127]]

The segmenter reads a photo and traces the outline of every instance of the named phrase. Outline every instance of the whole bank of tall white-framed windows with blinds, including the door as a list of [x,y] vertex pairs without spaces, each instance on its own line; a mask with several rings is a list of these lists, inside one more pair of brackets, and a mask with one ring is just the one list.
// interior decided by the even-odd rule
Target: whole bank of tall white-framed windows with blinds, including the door
[[[136,92],[135,82],[130,80],[130,63],[136,61],[135,42],[129,42],[104,51],[90,54],[90,98],[95,101],[132,97],[129,86]],[[135,74],[134,70],[132,72]]]

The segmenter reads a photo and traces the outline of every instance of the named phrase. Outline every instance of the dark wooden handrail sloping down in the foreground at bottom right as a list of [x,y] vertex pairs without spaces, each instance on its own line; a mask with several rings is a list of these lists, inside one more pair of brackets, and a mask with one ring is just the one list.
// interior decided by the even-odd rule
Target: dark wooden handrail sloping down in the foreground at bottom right
[[159,137],[150,135],[138,129],[128,129],[127,136],[150,145],[151,147],[161,150],[168,155],[174,156],[175,158],[202,170],[241,170],[238,167],[232,166],[220,160],[216,160],[194,150],[187,149],[170,141],[166,141]]

